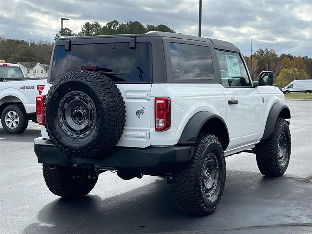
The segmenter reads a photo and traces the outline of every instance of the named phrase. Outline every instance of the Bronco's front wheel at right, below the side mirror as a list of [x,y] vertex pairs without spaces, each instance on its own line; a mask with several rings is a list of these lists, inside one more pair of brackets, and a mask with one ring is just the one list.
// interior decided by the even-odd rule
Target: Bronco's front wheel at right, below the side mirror
[[257,164],[265,176],[282,176],[291,156],[291,133],[284,118],[277,118],[273,134],[255,146]]

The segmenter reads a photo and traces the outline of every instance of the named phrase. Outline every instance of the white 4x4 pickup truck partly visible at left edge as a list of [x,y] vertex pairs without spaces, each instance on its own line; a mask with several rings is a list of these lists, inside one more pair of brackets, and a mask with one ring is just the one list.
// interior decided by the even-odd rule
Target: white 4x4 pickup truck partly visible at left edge
[[46,79],[27,78],[17,64],[0,61],[0,118],[4,130],[20,134],[35,121],[35,100]]

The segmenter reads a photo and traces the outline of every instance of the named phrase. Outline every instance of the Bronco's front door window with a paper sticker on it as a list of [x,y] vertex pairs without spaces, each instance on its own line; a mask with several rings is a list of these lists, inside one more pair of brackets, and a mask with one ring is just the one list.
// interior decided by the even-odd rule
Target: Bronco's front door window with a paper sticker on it
[[217,50],[222,85],[224,87],[252,86],[244,63],[238,53]]

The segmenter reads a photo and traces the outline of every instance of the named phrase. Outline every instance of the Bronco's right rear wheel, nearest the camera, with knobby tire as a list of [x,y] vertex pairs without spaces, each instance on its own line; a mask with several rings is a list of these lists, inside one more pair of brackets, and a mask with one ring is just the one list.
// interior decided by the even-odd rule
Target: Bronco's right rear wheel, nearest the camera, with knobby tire
[[225,157],[215,135],[199,134],[193,157],[172,175],[176,203],[191,215],[209,215],[218,206],[226,177]]

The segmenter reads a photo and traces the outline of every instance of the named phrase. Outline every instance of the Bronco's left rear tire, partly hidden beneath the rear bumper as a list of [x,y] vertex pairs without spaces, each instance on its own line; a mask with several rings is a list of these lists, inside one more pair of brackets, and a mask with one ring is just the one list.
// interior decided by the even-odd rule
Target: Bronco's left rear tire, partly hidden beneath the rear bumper
[[73,199],[90,193],[98,180],[96,171],[52,164],[43,164],[43,176],[53,194]]

